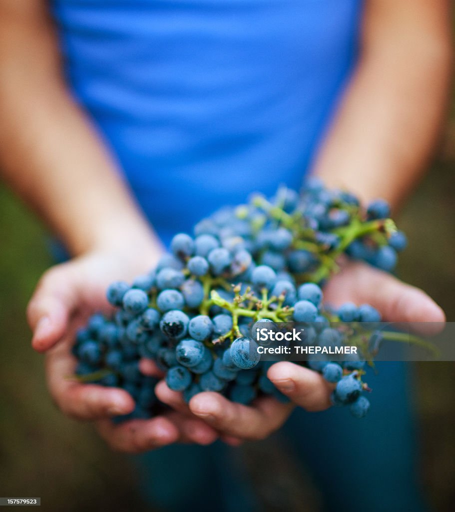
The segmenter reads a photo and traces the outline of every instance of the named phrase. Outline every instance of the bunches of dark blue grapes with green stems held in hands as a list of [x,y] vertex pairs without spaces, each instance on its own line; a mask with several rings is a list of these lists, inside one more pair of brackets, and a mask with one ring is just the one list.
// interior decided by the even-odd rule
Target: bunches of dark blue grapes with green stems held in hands
[[187,402],[202,391],[243,404],[260,395],[285,401],[267,377],[274,363],[260,360],[254,333],[297,322],[306,345],[361,349],[349,360],[319,355],[299,364],[335,383],[335,405],[364,416],[370,404],[362,376],[383,336],[374,329],[380,315],[367,304],[323,306],[321,286],[342,254],[393,269],[406,239],[388,216],[384,201],[364,209],[317,180],[301,194],[281,187],[270,200],[255,195],[217,211],[195,226],[194,237],[177,234],[148,274],[109,286],[116,313],[95,314],[78,332],[77,378],[128,391],[136,402],[128,418],[164,407],[154,394],[157,379],[139,369],[142,358],[153,359]]

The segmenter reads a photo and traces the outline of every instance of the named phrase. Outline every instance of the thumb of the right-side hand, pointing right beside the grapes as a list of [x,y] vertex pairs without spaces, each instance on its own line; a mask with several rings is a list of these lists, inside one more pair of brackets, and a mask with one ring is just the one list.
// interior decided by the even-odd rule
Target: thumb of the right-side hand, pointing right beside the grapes
[[335,305],[346,300],[368,303],[381,312],[386,322],[422,323],[420,330],[429,328],[431,333],[443,328],[444,311],[423,290],[365,264],[355,264],[352,268],[350,279],[343,282],[343,287],[335,280],[327,287],[327,294]]

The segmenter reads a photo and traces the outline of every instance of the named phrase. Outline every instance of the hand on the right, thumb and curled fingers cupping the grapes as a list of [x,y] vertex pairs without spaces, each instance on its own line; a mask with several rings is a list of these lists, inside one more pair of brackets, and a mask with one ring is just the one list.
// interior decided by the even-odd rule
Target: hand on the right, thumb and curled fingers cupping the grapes
[[[324,300],[339,306],[344,302],[368,303],[378,309],[386,322],[445,322],[442,309],[422,290],[402,283],[394,276],[364,263],[348,263],[324,290]],[[317,372],[292,362],[278,362],[267,372],[269,379],[290,400],[282,404],[271,397],[259,398],[251,407],[233,403],[218,393],[200,393],[187,406],[180,393],[164,381],[157,396],[182,413],[193,413],[220,432],[221,436],[263,439],[284,423],[294,406],[322,411],[331,405],[334,385]]]

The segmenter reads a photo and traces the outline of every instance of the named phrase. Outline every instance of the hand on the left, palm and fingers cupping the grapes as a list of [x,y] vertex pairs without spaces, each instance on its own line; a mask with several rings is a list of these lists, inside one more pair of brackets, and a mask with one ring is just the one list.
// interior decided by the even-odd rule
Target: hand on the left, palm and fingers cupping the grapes
[[177,441],[208,444],[217,437],[207,423],[175,411],[115,425],[111,417],[134,409],[134,401],[126,391],[67,378],[76,367],[71,354],[76,330],[95,311],[111,310],[105,298],[109,283],[131,280],[150,270],[160,253],[161,247],[125,244],[123,253],[118,248],[95,250],[52,267],[42,276],[27,310],[32,345],[45,352],[48,387],[57,406],[73,418],[96,421],[107,443],[124,452],[152,450]]

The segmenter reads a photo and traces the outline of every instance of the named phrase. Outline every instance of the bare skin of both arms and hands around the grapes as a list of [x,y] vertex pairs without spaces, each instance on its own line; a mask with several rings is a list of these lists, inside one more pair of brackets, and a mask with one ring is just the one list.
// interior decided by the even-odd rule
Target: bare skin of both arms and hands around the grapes
[[[206,444],[218,436],[231,444],[262,439],[295,405],[329,407],[332,387],[319,374],[280,362],[268,376],[291,404],[266,397],[246,407],[201,393],[187,406],[162,381],[157,395],[174,412],[115,426],[109,418],[134,407],[125,391],[65,380],[75,366],[74,331],[91,312],[108,308],[107,285],[153,267],[163,249],[115,158],[67,90],[46,9],[44,2],[0,0],[0,166],[74,256],[42,276],[28,307],[32,345],[45,353],[58,407],[95,421],[102,437],[125,452],[176,441]],[[365,201],[380,196],[400,203],[437,140],[449,82],[448,20],[448,2],[367,3],[359,65],[314,174]],[[347,265],[324,292],[335,305],[370,303],[387,321],[444,321],[424,292],[363,264]],[[156,373],[147,362],[143,370]]]

